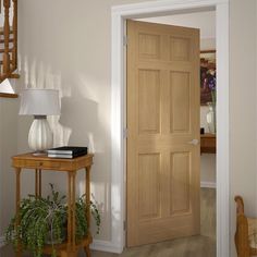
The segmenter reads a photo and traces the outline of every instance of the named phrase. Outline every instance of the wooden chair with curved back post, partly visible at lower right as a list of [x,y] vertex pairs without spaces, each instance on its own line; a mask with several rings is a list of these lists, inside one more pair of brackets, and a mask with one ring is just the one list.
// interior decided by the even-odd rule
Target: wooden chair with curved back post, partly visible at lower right
[[257,256],[257,219],[247,218],[244,213],[244,201],[235,196],[236,232],[235,247],[238,257]]

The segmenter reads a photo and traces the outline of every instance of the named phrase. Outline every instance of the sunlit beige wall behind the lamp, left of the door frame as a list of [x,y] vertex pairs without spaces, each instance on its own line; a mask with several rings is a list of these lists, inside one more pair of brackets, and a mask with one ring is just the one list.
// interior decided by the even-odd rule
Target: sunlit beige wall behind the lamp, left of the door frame
[[[20,87],[58,88],[62,114],[50,118],[56,145],[88,145],[95,152],[91,187],[102,216],[99,238],[111,238],[111,7],[137,0],[19,1]],[[19,119],[17,151],[27,150],[32,118]],[[83,181],[78,178],[78,192]],[[64,175],[46,174],[64,192]],[[23,195],[33,191],[24,175]],[[47,191],[47,189],[46,189]],[[13,200],[13,197],[5,197]]]

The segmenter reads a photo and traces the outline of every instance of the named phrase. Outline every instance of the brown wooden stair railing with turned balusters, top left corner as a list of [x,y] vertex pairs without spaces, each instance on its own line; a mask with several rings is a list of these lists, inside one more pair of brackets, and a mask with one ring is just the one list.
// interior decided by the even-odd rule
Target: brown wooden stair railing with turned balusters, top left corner
[[20,77],[20,75],[15,73],[17,69],[17,0],[3,0],[3,9],[0,15],[4,16],[3,27],[0,27],[1,83],[5,78]]

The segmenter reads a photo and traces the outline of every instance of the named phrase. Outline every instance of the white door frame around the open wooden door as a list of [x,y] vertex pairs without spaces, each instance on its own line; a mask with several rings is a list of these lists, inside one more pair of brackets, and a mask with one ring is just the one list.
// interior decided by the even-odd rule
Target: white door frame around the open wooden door
[[229,167],[229,0],[161,0],[112,8],[112,175],[111,242],[122,253],[125,242],[125,56],[127,19],[216,10],[217,30],[217,256],[230,256],[230,167]]

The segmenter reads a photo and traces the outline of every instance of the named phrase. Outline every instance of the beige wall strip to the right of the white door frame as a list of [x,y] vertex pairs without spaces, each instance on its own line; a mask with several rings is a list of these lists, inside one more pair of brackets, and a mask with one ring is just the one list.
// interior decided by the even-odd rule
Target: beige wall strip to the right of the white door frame
[[257,216],[257,140],[256,140],[256,57],[257,1],[232,0],[230,8],[230,174],[231,245],[235,207],[233,197],[245,199],[245,211]]

